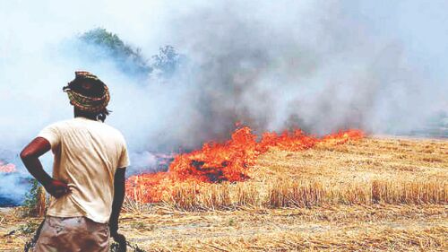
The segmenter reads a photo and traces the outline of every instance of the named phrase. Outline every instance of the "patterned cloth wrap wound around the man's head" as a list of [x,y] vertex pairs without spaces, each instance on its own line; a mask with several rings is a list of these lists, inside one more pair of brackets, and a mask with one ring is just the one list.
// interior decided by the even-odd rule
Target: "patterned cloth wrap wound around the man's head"
[[[70,103],[77,109],[86,112],[99,113],[105,111],[110,100],[108,86],[101,82],[96,75],[90,74],[89,72],[76,71],[74,74],[74,80],[63,88],[63,91],[65,91],[68,95]],[[82,81],[88,81],[88,83],[92,83],[92,85],[102,85],[104,89],[102,95],[100,97],[90,97],[75,91],[75,89],[73,89],[73,84],[81,83]]]

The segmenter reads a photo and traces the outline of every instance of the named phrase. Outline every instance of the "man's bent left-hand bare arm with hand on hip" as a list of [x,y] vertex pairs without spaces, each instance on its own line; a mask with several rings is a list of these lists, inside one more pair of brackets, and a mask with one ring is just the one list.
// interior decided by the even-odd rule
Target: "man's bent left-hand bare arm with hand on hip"
[[45,187],[47,192],[54,197],[64,196],[69,192],[64,182],[51,178],[43,169],[39,157],[51,150],[51,145],[47,139],[37,137],[29,143],[21,152],[21,159],[30,174],[38,179],[39,183]]

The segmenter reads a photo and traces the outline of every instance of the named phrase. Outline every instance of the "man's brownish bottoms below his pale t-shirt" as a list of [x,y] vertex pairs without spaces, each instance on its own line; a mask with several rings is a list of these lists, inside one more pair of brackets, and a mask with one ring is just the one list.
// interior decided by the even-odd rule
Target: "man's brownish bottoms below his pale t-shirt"
[[34,252],[108,252],[108,224],[86,217],[47,216]]

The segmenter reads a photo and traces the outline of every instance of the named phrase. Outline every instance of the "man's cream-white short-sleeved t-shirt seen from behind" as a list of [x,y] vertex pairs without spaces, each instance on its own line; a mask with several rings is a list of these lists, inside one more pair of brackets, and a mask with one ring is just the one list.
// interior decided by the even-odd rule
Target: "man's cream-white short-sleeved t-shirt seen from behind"
[[123,135],[102,122],[75,117],[47,126],[38,136],[47,139],[55,154],[53,178],[72,191],[52,197],[47,215],[108,222],[116,169],[129,166]]

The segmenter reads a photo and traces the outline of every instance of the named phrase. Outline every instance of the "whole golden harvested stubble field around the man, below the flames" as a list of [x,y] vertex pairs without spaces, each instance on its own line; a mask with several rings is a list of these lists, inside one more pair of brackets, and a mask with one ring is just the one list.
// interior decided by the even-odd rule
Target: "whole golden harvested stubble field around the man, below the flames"
[[[182,183],[158,204],[127,199],[121,230],[147,251],[446,251],[447,172],[446,140],[272,148],[245,182]],[[17,212],[0,213],[0,251],[21,251],[40,221]]]

